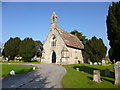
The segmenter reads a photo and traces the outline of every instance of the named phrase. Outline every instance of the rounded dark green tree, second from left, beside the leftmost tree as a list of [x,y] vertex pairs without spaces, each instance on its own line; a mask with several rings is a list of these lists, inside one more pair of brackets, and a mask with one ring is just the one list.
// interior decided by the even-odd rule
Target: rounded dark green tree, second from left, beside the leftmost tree
[[19,46],[19,54],[25,61],[30,61],[36,54],[35,42],[32,38],[25,38]]

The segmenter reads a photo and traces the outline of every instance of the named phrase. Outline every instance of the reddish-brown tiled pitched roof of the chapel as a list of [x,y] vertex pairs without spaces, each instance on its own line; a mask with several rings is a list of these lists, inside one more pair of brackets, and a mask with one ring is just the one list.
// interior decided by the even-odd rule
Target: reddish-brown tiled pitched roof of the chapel
[[60,28],[56,28],[56,29],[59,31],[62,39],[64,40],[67,46],[78,48],[78,49],[84,49],[84,45],[75,35],[72,35]]

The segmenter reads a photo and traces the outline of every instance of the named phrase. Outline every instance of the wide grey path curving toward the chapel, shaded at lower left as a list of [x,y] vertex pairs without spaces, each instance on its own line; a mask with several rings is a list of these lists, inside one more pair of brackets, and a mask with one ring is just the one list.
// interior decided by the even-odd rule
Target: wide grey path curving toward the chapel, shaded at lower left
[[66,69],[56,64],[33,64],[38,70],[2,78],[2,88],[62,88]]

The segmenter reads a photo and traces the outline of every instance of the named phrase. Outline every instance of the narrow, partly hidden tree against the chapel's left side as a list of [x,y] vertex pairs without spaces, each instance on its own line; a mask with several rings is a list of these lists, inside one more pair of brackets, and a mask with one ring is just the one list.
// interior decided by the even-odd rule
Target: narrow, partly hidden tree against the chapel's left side
[[35,41],[35,46],[36,46],[36,55],[37,57],[41,57],[42,56],[42,50],[43,50],[43,44],[41,43],[41,41]]

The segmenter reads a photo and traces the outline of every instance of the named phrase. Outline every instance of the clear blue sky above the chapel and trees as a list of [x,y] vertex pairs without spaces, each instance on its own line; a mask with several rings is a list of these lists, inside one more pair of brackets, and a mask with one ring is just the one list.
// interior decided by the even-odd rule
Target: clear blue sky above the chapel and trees
[[10,37],[31,37],[43,42],[54,11],[59,28],[67,32],[78,30],[88,39],[102,38],[109,49],[106,17],[110,5],[111,2],[3,2],[2,42]]

